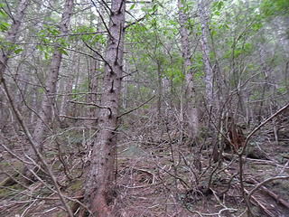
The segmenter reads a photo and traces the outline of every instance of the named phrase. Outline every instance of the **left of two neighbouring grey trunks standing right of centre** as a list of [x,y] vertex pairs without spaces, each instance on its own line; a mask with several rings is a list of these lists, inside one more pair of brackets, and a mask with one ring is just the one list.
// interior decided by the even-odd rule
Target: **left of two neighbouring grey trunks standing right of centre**
[[[199,132],[199,116],[198,109],[196,107],[195,92],[193,85],[193,75],[191,72],[191,60],[190,60],[190,44],[189,44],[189,33],[186,28],[186,23],[188,21],[187,15],[183,12],[184,5],[181,0],[178,0],[179,8],[179,23],[181,25],[181,48],[182,48],[182,71],[185,75],[184,83],[184,94],[185,94],[185,119],[188,119],[188,135],[195,139]],[[181,102],[182,103],[182,102]],[[183,108],[183,105],[182,105]],[[183,111],[184,112],[184,111]],[[182,119],[183,115],[182,115]]]

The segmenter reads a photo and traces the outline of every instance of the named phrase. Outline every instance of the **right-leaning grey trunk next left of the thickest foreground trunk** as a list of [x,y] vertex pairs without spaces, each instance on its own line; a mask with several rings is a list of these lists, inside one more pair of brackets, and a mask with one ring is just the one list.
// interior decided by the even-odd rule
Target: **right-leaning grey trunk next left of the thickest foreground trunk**
[[[70,24],[70,17],[72,14],[73,8],[73,0],[66,0],[64,5],[64,11],[61,17],[61,24],[60,24],[60,34],[64,35],[68,33],[69,24]],[[37,148],[42,153],[43,149],[43,134],[46,129],[46,125],[49,125],[52,116],[52,109],[54,107],[55,101],[55,94],[57,89],[57,81],[59,77],[59,71],[61,67],[61,59],[62,53],[60,51],[60,45],[56,44],[54,48],[53,55],[51,57],[51,65],[50,71],[48,73],[48,78],[45,82],[45,90],[42,96],[42,105],[41,110],[39,112],[39,118],[36,122],[36,127],[33,132],[33,137],[36,141]],[[30,147],[28,150],[28,155],[37,163],[39,159],[33,150],[33,147]],[[30,174],[29,169],[33,169],[32,165],[27,166],[25,168],[25,174]],[[31,176],[31,175],[28,175]]]

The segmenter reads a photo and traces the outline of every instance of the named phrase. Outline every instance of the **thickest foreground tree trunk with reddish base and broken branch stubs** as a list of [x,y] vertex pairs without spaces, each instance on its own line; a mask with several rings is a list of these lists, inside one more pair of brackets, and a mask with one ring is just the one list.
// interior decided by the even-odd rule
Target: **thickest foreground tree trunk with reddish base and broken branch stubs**
[[[98,113],[98,136],[94,139],[89,172],[85,184],[85,203],[89,216],[107,217],[115,195],[117,152],[117,116],[121,90],[124,53],[125,0],[111,2],[105,63],[105,78]],[[83,216],[88,216],[84,213]]]

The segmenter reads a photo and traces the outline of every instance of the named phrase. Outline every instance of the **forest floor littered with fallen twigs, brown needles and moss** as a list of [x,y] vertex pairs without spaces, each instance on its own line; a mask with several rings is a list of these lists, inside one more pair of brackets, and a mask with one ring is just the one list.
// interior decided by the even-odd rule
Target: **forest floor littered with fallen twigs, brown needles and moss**
[[[192,144],[173,125],[166,121],[155,123],[153,119],[140,120],[142,124],[127,122],[119,130],[114,204],[117,215],[247,216],[238,156],[223,153],[222,159],[214,162],[208,135],[203,133],[199,143]],[[251,195],[250,210],[255,216],[289,216],[287,128],[280,128],[278,143],[272,127],[263,128],[250,141],[244,156],[242,178],[246,196],[267,180]],[[77,200],[81,197],[86,164],[83,153],[89,139],[81,127],[65,129],[59,137],[61,152],[59,146],[53,146],[51,137],[46,141],[46,157],[63,194]],[[67,216],[47,175],[39,173],[42,181],[31,185],[24,184],[21,175],[14,176],[23,168],[19,159],[27,148],[25,137],[21,133],[6,133],[1,141],[0,216]],[[4,183],[9,176],[15,179],[14,183]],[[69,203],[72,206],[74,202]]]

